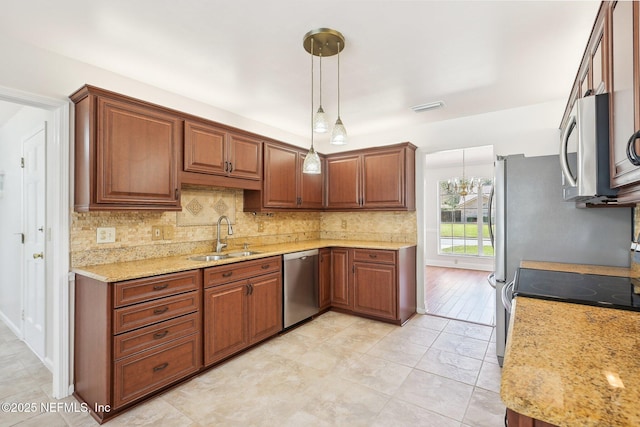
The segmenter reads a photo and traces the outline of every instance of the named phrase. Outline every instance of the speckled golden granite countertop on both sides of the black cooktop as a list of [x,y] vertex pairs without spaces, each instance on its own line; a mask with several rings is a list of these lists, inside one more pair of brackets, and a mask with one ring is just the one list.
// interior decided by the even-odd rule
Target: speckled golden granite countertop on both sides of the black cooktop
[[[604,271],[567,264],[543,268]],[[520,296],[514,300],[500,396],[508,408],[558,426],[640,425],[639,355],[638,312]]]

